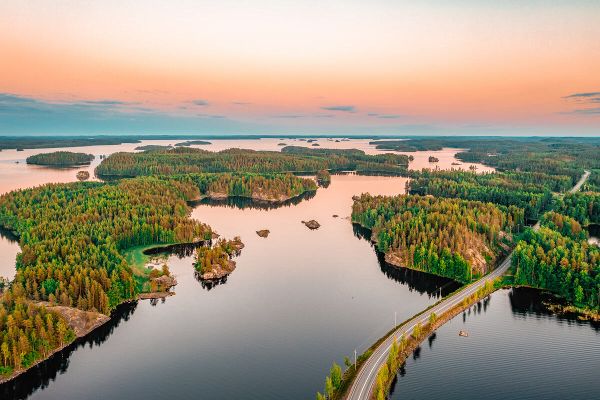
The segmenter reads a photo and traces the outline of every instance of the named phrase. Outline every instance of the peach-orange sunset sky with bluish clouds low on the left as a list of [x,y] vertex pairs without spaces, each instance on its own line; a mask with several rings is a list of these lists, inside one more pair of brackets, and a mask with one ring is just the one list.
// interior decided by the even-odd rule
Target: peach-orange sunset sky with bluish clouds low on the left
[[0,2],[0,135],[600,135],[598,1]]

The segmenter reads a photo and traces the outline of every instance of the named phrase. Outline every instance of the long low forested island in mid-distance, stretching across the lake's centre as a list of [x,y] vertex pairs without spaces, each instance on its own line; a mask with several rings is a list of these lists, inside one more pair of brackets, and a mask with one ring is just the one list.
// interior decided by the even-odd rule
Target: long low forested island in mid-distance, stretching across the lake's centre
[[[97,167],[99,175],[139,176],[219,172],[313,172],[323,169],[376,169],[400,171],[406,155],[367,155],[362,151],[305,149],[287,146],[281,152],[227,149],[220,152],[179,147],[143,153],[116,153]],[[287,149],[287,150],[286,150]],[[304,149],[304,148],[302,148]],[[310,151],[309,151],[310,150]]]

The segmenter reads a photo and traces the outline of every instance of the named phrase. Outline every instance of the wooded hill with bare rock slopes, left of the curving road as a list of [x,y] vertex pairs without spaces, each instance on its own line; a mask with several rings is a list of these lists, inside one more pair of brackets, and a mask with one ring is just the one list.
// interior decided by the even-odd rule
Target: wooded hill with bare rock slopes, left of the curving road
[[421,196],[363,194],[352,221],[373,231],[386,260],[469,281],[494,263],[502,236],[523,221],[517,206]]

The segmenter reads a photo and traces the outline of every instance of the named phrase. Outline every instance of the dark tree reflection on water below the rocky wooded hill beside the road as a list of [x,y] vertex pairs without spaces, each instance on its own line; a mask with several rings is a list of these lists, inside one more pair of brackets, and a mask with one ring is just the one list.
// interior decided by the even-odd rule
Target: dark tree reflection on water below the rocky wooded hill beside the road
[[[371,231],[367,228],[361,227],[359,224],[352,224],[352,230],[359,239],[371,241]],[[407,285],[410,291],[416,290],[418,293],[427,294],[429,297],[440,298],[440,296],[446,296],[446,294],[452,293],[461,287],[461,283],[454,279],[386,263],[385,255],[378,251],[373,243],[371,243],[371,246],[377,255],[377,261],[379,261],[379,267],[383,274],[389,279]]]

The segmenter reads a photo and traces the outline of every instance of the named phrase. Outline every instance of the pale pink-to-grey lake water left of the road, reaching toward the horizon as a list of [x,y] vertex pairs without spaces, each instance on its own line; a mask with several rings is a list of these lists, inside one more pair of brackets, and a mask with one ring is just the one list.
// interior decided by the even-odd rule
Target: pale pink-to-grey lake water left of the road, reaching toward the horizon
[[[212,149],[281,147],[277,139],[211,142]],[[286,139],[289,142],[305,143]],[[99,155],[156,143],[68,150]],[[319,139],[319,143],[374,151],[368,140]],[[74,181],[77,170],[93,170],[99,162],[49,169],[14,164],[11,158],[24,161],[29,154],[46,151],[53,149],[0,152],[0,191]],[[435,164],[449,168],[455,152],[415,153],[411,167],[430,166],[427,158],[434,154],[440,159]],[[14,170],[5,173],[5,166]],[[485,168],[480,166],[479,171]],[[444,286],[442,295],[457,288],[449,279],[387,266],[364,239],[364,231],[349,221],[353,195],[403,193],[405,182],[399,177],[347,173],[332,176],[327,188],[301,201],[268,209],[245,199],[198,204],[193,218],[224,237],[241,236],[246,245],[235,258],[236,270],[224,282],[205,285],[197,280],[190,251],[166,255],[178,276],[175,296],[121,306],[110,324],[0,386],[0,398],[314,398],[317,390],[323,391],[329,366],[334,361],[343,365],[344,357],[352,357],[355,349],[358,354],[366,350],[394,326],[394,312],[400,323],[436,302],[440,287]],[[308,219],[322,226],[309,230],[301,224]],[[257,236],[261,229],[269,229],[269,237]],[[0,231],[0,251],[2,273],[12,277],[19,248],[5,231]],[[491,302],[494,309],[511,312],[509,304],[497,303]],[[543,327],[529,329],[536,332]],[[518,339],[528,343],[522,340],[525,336]],[[576,368],[577,359],[565,353],[554,357],[555,362]],[[434,371],[429,372],[432,380]],[[461,393],[445,395],[462,397]]]

